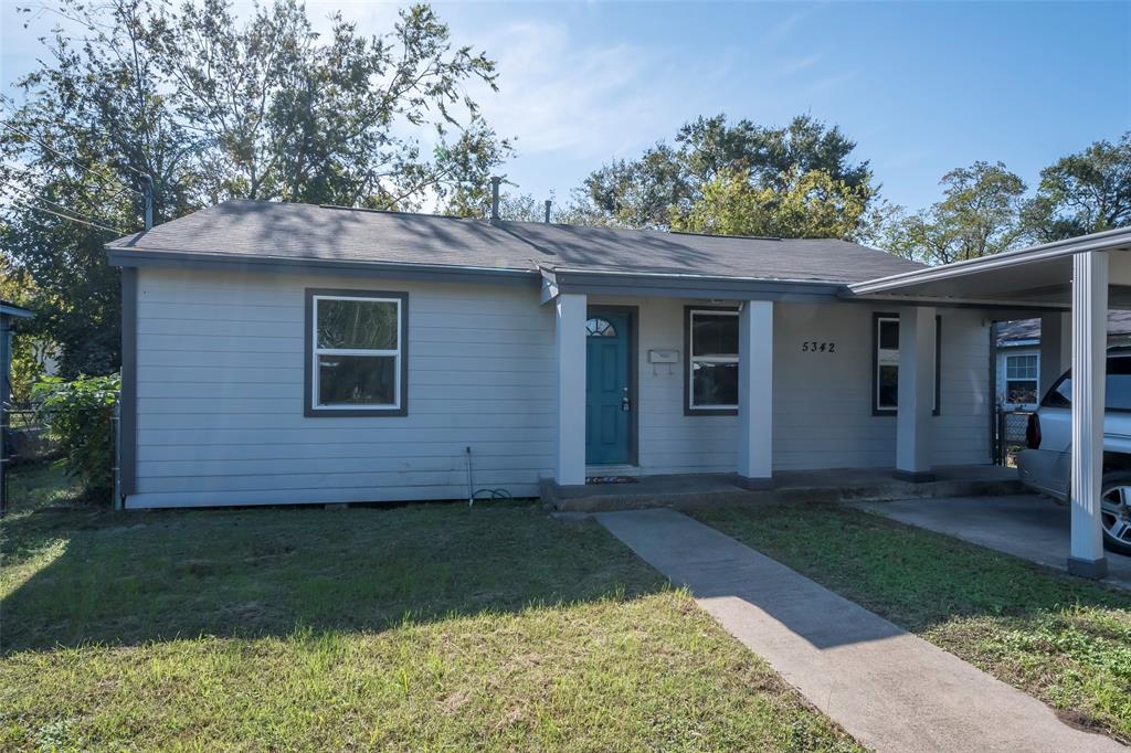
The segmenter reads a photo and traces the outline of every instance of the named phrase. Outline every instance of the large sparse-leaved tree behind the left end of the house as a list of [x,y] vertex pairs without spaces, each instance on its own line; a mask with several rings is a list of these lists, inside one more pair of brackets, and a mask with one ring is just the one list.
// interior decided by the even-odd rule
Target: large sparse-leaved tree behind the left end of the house
[[228,198],[467,214],[510,150],[466,94],[494,87],[494,63],[455,46],[428,6],[372,37],[336,16],[325,40],[295,0],[245,21],[230,0],[53,10],[87,34],[57,29],[17,81],[26,104],[0,121],[0,233],[67,374],[119,364],[102,244],[140,228],[143,175],[156,222]]

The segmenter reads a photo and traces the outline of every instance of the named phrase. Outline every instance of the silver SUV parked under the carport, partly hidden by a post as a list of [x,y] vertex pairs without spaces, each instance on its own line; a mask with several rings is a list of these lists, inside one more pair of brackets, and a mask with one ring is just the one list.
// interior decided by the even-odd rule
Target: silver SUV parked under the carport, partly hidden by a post
[[[1131,347],[1107,352],[1104,483],[1100,518],[1107,548],[1131,554]],[[1029,416],[1027,450],[1017,458],[1021,482],[1068,501],[1072,450],[1072,374],[1067,372]]]

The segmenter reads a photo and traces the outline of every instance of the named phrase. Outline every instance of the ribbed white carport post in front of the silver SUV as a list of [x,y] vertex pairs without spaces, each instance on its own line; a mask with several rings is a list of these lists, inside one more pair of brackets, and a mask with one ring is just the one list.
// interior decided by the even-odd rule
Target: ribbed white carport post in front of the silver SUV
[[1072,257],[1072,548],[1069,572],[1107,575],[1099,518],[1107,379],[1107,253]]

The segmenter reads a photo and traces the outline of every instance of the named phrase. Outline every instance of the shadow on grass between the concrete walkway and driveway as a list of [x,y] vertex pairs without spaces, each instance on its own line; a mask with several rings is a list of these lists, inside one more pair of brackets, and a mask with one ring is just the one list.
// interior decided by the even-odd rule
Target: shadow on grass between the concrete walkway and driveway
[[1123,591],[843,504],[759,504],[696,517],[914,632],[955,617],[1131,609]]

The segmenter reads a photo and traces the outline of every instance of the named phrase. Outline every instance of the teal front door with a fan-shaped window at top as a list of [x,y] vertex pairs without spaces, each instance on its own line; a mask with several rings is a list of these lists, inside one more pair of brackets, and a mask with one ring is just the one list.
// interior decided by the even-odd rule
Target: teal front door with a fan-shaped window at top
[[632,338],[627,311],[589,309],[586,322],[585,461],[632,461]]

